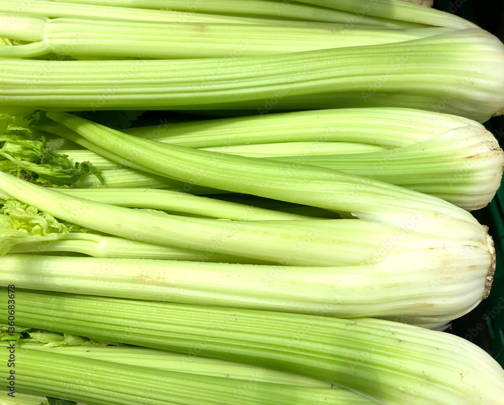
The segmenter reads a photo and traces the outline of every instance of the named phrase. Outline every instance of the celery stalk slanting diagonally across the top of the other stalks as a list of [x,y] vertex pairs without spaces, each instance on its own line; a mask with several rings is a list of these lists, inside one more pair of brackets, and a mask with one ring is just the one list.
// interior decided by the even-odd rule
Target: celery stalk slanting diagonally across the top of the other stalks
[[[460,229],[465,224],[470,238],[486,243],[481,226],[467,212],[440,199],[397,186],[312,165],[247,158],[140,139],[67,113],[48,112],[47,116],[77,131],[99,150],[112,151],[121,155],[123,161],[130,160],[134,165],[148,167],[171,178],[349,212],[367,221],[397,226],[404,226],[412,216],[420,215],[421,232],[445,235],[449,239],[453,237],[453,230],[449,230],[448,224],[454,221],[453,227]],[[440,227],[440,218],[448,228]]]

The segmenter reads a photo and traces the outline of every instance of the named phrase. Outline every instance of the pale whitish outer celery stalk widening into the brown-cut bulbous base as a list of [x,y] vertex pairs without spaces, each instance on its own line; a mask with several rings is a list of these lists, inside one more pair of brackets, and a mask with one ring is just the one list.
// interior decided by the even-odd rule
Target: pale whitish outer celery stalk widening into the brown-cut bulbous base
[[477,247],[418,249],[345,267],[8,254],[0,285],[421,325],[478,305],[490,290],[490,266]]

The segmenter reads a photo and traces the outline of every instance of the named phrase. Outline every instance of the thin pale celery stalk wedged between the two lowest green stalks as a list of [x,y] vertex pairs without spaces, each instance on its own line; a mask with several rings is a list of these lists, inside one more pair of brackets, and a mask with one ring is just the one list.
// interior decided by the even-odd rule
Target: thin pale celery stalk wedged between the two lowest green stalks
[[[6,346],[6,344],[0,343],[0,346]],[[219,359],[188,356],[165,350],[98,345],[48,347],[40,343],[30,343],[29,339],[20,341],[19,347],[42,352],[58,353],[67,356],[84,357],[86,359],[103,360],[119,364],[130,364],[137,367],[149,367],[158,370],[208,375],[232,380],[248,380],[317,388],[338,388],[333,387],[333,384],[329,382],[306,378],[296,374],[283,373],[263,367],[249,366],[246,364]],[[39,404],[37,403],[37,405]]]

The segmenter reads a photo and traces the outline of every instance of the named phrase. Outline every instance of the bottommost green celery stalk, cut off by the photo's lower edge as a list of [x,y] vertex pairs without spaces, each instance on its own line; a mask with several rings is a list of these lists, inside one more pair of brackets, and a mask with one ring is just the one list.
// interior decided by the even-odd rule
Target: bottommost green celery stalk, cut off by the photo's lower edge
[[[100,405],[159,405],[194,403],[209,405],[291,405],[298,401],[317,404],[372,403],[350,391],[331,388],[247,382],[174,371],[117,364],[40,350],[16,348],[16,390]],[[0,386],[8,385],[9,351],[2,350]]]

